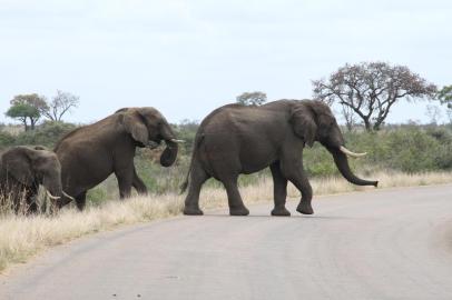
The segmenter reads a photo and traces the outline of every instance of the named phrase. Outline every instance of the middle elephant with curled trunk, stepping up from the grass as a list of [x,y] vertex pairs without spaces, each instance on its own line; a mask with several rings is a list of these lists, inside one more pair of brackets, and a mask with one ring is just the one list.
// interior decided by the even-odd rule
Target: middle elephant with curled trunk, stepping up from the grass
[[[178,146],[164,116],[154,108],[124,108],[94,124],[78,128],[63,137],[55,152],[61,162],[65,191],[76,199],[79,210],[86,204],[86,194],[111,173],[118,179],[121,199],[130,197],[131,187],[146,194],[147,188],[138,177],[134,157],[136,148],[166,142],[160,164],[171,166]],[[69,203],[68,198],[58,206]]]

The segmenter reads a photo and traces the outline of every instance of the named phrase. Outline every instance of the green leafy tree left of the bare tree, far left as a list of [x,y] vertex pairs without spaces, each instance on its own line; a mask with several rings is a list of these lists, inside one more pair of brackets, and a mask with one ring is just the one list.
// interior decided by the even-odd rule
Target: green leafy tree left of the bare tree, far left
[[[35,130],[35,127],[41,118],[41,111],[46,109],[46,98],[37,94],[18,94],[11,101],[11,108],[7,116],[21,121],[27,130]],[[30,121],[30,126],[28,123]]]

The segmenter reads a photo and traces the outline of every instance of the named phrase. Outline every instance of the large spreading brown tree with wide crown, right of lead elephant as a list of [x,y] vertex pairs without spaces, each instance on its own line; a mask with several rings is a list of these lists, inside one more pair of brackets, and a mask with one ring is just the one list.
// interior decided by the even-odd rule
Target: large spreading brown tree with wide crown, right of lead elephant
[[400,100],[434,98],[436,86],[404,66],[385,62],[345,64],[327,80],[313,80],[314,97],[340,103],[356,113],[367,131],[380,130]]

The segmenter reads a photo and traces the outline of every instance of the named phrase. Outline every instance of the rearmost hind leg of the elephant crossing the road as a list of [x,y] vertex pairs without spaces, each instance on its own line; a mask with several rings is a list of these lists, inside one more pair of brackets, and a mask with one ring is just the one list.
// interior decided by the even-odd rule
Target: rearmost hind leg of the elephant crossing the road
[[207,174],[206,171],[198,163],[195,162],[190,173],[188,194],[187,198],[185,198],[184,214],[203,214],[203,210],[200,210],[199,208],[199,193],[204,182],[206,182],[206,180],[209,178],[210,176]]

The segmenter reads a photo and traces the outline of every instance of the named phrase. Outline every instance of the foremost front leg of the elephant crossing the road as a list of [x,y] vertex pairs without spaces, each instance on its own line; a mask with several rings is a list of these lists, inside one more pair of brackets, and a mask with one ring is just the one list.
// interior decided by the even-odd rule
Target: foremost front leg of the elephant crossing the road
[[313,188],[311,187],[309,180],[303,170],[303,164],[286,163],[283,167],[283,173],[302,193],[302,200],[299,201],[296,210],[303,214],[313,214],[314,210],[311,204],[313,199]]

